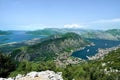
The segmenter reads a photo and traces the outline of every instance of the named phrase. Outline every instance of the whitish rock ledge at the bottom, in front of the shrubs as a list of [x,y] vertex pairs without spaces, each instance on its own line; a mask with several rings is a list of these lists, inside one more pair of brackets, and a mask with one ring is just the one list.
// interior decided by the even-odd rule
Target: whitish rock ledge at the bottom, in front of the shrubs
[[62,72],[55,73],[54,71],[30,72],[26,75],[18,74],[13,78],[0,78],[0,80],[63,80]]

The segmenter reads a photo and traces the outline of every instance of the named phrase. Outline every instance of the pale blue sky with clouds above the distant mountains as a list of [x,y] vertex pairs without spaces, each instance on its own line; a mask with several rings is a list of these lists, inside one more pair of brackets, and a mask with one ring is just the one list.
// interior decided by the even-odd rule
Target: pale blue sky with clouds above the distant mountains
[[0,30],[120,29],[120,0],[0,0]]

